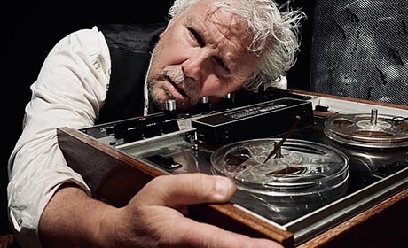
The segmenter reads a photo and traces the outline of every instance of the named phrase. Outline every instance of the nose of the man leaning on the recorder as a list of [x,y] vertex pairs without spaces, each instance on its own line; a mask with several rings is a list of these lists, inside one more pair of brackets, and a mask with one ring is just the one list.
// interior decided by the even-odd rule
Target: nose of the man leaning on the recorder
[[186,59],[182,64],[185,76],[195,81],[200,81],[207,59],[208,55],[205,52],[197,51],[193,53],[192,56]]

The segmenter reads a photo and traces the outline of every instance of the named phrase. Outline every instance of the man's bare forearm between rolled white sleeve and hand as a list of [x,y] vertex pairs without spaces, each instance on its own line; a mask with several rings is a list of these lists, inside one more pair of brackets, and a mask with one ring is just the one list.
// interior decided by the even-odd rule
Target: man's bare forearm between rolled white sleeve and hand
[[118,209],[90,198],[74,183],[64,184],[45,207],[39,223],[43,247],[108,247],[101,234],[105,216]]

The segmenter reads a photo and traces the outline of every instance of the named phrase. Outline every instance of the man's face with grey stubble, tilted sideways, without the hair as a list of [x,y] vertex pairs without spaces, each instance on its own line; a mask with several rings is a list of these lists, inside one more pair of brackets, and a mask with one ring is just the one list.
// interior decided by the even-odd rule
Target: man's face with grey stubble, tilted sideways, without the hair
[[185,111],[201,97],[211,101],[241,88],[257,61],[247,52],[247,27],[237,17],[216,11],[200,0],[172,19],[161,34],[147,75],[150,100],[163,109],[175,99]]

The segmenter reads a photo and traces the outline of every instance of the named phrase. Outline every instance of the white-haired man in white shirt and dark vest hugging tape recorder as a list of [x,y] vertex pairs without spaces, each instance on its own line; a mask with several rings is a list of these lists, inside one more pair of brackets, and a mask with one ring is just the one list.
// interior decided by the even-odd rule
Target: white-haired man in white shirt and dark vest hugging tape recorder
[[216,103],[268,86],[294,62],[302,12],[280,13],[270,0],[176,0],[169,14],[164,29],[80,30],[44,61],[9,161],[9,215],[22,246],[280,247],[184,216],[186,205],[230,200],[235,185],[227,178],[157,177],[116,208],[91,198],[67,167],[55,128],[160,111],[168,99],[180,111],[201,97]]

